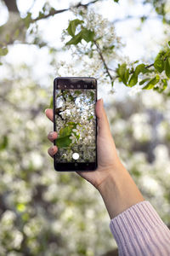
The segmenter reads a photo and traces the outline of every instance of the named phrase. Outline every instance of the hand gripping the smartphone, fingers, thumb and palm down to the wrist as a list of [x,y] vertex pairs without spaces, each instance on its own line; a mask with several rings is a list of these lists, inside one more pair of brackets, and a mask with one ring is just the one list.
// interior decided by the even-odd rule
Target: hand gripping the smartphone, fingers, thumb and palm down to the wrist
[[[98,135],[97,135],[97,152],[98,152],[98,168],[95,171],[78,171],[77,173],[92,183],[96,189],[99,189],[99,185],[105,181],[107,177],[110,177],[111,173],[117,172],[120,168],[123,168],[121,160],[116,153],[116,146],[111,136],[109,122],[103,106],[103,100],[100,99],[96,102],[96,115],[98,119]],[[48,119],[52,120],[53,110],[46,109],[45,111]],[[48,139],[53,143],[57,138],[57,132],[51,131],[48,133]],[[57,146],[48,148],[48,154],[54,157],[58,151]]]

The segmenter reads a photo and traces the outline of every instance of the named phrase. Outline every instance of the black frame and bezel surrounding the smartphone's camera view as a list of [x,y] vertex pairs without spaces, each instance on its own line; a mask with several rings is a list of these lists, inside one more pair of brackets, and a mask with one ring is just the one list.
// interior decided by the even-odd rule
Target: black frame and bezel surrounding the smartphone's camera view
[[[56,127],[56,120],[55,120],[55,89],[57,89],[57,84],[59,80],[65,80],[67,85],[70,85],[70,81],[72,79],[76,79],[77,81],[81,81],[81,83],[83,84],[83,80],[87,81],[92,81],[91,84],[94,84],[94,88],[91,89],[96,89],[96,98],[95,98],[95,102],[97,102],[97,80],[94,79],[93,77],[58,77],[54,79],[54,93],[53,93],[53,103],[54,103],[54,108],[53,108],[53,113],[54,113],[54,131],[56,131],[55,127]],[[71,89],[71,88],[70,88]],[[90,89],[90,88],[88,88]],[[97,168],[97,117],[95,116],[96,119],[96,136],[95,136],[95,142],[96,142],[96,149],[95,149],[95,162],[91,162],[91,163],[80,163],[77,162],[75,160],[75,162],[72,163],[56,163],[56,154],[54,154],[54,169],[57,172],[77,172],[77,171],[95,171]],[[55,140],[54,140],[54,145],[55,144]]]

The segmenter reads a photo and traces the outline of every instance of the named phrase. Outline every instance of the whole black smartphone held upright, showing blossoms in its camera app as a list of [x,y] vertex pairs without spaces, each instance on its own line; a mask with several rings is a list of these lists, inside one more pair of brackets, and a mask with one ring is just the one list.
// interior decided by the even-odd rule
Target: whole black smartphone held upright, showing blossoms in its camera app
[[54,145],[56,171],[97,168],[97,80],[86,77],[54,79]]

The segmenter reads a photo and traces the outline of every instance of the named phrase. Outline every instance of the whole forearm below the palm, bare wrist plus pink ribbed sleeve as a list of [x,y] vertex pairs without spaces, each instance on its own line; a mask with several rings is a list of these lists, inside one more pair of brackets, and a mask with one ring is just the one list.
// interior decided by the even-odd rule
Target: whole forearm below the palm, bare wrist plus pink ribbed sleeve
[[111,172],[98,189],[120,256],[170,255],[170,231],[123,166]]

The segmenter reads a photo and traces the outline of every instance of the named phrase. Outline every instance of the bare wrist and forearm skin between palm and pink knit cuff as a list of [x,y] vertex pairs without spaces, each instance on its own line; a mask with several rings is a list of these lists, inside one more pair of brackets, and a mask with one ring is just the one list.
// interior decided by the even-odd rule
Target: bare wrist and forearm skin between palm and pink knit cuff
[[99,185],[110,218],[115,218],[121,212],[132,207],[139,201],[144,201],[138,187],[127,170],[121,166],[119,170],[112,170],[111,175]]

